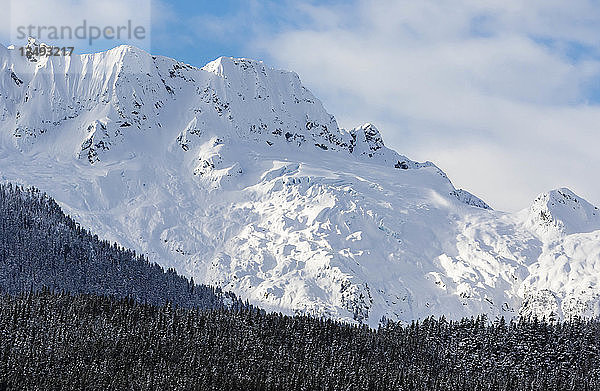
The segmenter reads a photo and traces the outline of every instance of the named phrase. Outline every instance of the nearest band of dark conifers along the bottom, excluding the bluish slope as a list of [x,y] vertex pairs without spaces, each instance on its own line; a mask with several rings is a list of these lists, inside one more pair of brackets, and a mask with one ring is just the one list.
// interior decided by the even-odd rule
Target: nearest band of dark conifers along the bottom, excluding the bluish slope
[[598,390],[600,323],[379,330],[50,292],[0,302],[10,389]]

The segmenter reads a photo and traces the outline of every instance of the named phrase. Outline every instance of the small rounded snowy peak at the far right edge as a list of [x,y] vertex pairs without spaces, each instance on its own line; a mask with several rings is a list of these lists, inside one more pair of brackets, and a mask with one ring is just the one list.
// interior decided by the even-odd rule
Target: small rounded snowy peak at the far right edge
[[562,187],[540,194],[529,208],[528,223],[543,235],[600,230],[600,210]]

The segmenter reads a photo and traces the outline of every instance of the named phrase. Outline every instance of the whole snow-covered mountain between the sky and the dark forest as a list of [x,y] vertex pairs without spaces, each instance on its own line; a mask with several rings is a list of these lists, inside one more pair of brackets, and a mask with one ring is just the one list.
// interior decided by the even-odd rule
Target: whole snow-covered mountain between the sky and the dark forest
[[493,211],[259,61],[0,46],[0,143],[2,180],[266,309],[372,326],[600,315],[598,208],[559,189]]

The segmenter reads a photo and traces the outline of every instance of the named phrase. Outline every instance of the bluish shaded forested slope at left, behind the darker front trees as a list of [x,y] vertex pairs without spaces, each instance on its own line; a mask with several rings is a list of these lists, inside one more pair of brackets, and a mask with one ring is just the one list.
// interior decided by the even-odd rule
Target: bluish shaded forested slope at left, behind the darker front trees
[[72,293],[170,301],[185,307],[218,308],[229,293],[166,272],[135,252],[99,240],[65,216],[36,189],[0,185],[0,292],[48,288]]

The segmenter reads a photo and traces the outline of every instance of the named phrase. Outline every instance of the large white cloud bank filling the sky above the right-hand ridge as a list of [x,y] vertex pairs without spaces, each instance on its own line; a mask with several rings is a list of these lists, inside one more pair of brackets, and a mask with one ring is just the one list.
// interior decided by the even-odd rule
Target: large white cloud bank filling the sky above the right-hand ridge
[[[255,42],[345,127],[435,161],[499,209],[569,186],[600,204],[600,6],[594,1],[303,4]],[[597,91],[598,92],[598,91]],[[598,98],[598,97],[597,97]]]

